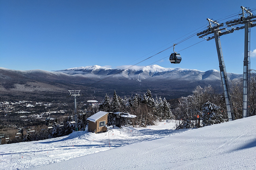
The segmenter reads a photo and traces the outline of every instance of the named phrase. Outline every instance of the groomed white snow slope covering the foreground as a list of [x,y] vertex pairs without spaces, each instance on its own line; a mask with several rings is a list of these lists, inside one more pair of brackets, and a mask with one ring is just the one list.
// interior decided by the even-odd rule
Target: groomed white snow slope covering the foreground
[[0,169],[256,169],[256,116],[199,129],[174,122],[0,146]]

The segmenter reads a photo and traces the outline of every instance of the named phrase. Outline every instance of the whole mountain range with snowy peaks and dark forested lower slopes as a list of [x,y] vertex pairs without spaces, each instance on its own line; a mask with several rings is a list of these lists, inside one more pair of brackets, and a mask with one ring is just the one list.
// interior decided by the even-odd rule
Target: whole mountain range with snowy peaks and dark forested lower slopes
[[[127,68],[127,69],[126,69]],[[242,78],[242,75],[227,73],[228,79]],[[217,70],[199,71],[195,69],[164,68],[159,65],[146,67],[123,67],[112,69],[98,65],[75,67],[59,71],[11,70],[0,67],[0,94],[29,97],[35,95],[63,96],[67,90],[79,89],[83,93],[102,96],[114,90],[121,96],[145,93],[167,99],[187,96],[197,85],[211,85],[222,92],[220,72]],[[28,94],[29,92],[29,94]],[[54,95],[53,95],[54,94]],[[90,98],[89,98],[90,99]],[[100,100],[100,99],[99,99]]]

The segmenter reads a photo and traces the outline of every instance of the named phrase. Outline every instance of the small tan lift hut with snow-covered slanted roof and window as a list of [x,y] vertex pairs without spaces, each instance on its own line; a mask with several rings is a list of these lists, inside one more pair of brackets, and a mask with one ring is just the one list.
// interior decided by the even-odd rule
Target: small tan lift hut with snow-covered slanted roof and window
[[89,132],[106,132],[108,124],[108,112],[99,111],[94,115],[88,117],[86,120],[88,123]]

